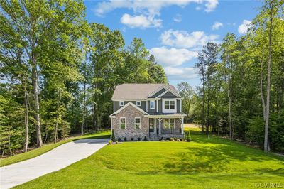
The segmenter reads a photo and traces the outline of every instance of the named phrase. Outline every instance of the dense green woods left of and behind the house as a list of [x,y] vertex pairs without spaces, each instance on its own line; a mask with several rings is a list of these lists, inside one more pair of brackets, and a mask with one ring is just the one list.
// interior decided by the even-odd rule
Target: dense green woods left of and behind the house
[[109,128],[114,87],[165,83],[143,41],[87,23],[83,1],[1,1],[0,152]]

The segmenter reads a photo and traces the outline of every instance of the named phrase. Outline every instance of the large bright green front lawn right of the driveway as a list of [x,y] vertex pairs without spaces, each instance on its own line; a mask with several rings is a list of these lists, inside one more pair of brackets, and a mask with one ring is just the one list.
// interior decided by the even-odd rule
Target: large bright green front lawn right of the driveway
[[256,188],[284,183],[284,158],[192,131],[192,142],[124,142],[18,188]]

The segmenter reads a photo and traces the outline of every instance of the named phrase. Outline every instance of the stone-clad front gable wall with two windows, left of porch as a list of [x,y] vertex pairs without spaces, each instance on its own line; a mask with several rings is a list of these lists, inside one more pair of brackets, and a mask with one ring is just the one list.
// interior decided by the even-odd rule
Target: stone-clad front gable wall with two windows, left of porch
[[[119,129],[120,117],[125,117],[126,129]],[[141,129],[135,129],[135,117],[141,118]],[[132,137],[137,140],[140,137],[143,140],[145,136],[149,139],[149,118],[144,117],[144,114],[132,105],[122,109],[121,112],[115,115],[115,118],[111,118],[111,121],[115,139],[124,140],[124,137],[126,137],[127,140],[131,140]]]

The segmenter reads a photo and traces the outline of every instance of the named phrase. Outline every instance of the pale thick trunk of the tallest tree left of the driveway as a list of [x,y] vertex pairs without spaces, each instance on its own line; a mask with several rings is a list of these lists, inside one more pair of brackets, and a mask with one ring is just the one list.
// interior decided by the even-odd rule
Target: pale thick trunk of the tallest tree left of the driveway
[[41,146],[43,146],[43,141],[41,139],[40,103],[38,99],[38,71],[34,55],[33,55],[33,68],[32,68],[32,82],[33,82],[33,95],[35,99],[35,126],[36,126],[36,136],[37,136],[36,144],[38,148],[40,148]]

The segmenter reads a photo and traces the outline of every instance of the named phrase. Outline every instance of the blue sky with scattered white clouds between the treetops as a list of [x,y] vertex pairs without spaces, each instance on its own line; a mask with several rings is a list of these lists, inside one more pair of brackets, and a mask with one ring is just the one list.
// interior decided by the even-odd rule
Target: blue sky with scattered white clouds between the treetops
[[126,45],[142,38],[163,66],[171,85],[200,85],[194,65],[209,41],[220,43],[226,33],[241,36],[256,16],[261,1],[159,0],[85,1],[87,20],[119,30]]

